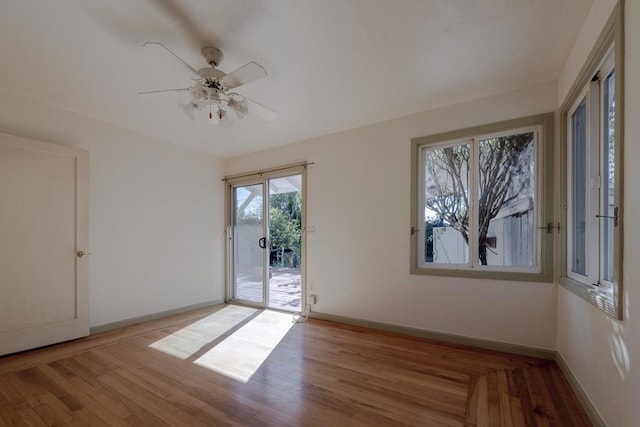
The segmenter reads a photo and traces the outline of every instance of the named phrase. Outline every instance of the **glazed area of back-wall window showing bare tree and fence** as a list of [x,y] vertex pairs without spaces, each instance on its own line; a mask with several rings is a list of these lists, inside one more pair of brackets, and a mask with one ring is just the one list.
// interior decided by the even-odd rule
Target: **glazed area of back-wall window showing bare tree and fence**
[[476,245],[478,265],[533,267],[535,132],[425,146],[423,155],[424,262],[467,264]]

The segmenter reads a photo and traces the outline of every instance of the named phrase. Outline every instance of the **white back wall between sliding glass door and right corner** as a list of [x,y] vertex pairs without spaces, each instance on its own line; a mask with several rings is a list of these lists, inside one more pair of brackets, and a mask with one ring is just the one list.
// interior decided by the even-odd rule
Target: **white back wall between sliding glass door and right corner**
[[555,285],[409,274],[409,186],[411,138],[553,111],[556,98],[557,85],[543,84],[230,159],[227,173],[315,162],[316,311],[552,349]]

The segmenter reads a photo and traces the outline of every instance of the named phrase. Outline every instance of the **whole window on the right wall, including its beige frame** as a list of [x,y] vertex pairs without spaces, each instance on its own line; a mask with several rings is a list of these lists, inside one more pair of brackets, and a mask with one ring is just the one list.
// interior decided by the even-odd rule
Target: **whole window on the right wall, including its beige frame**
[[621,318],[622,93],[618,5],[561,108],[560,282]]

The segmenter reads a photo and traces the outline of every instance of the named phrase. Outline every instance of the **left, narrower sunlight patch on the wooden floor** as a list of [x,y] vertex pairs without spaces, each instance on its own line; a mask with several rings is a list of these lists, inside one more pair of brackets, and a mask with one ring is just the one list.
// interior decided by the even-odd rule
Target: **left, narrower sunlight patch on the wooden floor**
[[[182,360],[215,341],[258,310],[228,305],[191,325],[150,344],[149,347]],[[291,316],[289,316],[291,322]]]

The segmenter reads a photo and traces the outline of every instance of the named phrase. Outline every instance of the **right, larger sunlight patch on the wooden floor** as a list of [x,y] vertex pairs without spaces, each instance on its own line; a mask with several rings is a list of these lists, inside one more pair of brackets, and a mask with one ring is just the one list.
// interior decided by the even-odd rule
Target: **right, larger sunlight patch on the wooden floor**
[[194,363],[246,383],[292,326],[291,314],[263,311]]

